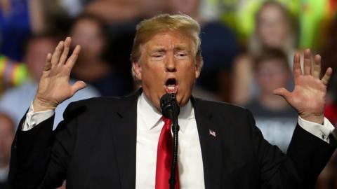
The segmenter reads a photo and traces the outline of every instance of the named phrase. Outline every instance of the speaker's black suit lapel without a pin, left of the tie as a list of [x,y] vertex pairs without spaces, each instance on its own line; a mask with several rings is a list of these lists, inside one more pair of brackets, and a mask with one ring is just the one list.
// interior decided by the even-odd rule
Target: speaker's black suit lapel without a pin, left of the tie
[[115,153],[121,188],[136,187],[137,100],[141,90],[126,97],[112,120]]

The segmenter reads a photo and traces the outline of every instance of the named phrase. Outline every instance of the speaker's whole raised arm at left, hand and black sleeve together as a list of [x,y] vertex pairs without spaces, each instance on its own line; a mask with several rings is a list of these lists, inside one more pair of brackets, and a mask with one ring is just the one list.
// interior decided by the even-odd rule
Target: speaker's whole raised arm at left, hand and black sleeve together
[[[74,66],[80,47],[74,49],[68,58],[71,38],[60,41],[53,54],[46,57],[46,64],[34,97],[34,111],[53,110],[58,104],[84,88],[86,84],[77,81],[70,85],[70,72]],[[26,115],[28,117],[28,113]],[[55,188],[65,179],[66,164],[74,143],[74,127],[65,127],[65,121],[57,130],[67,130],[55,140],[53,116],[42,120],[29,130],[22,130],[24,116],[15,134],[11,151],[11,165],[8,180],[12,188]],[[27,120],[26,120],[27,121]],[[51,150],[53,148],[53,151]]]

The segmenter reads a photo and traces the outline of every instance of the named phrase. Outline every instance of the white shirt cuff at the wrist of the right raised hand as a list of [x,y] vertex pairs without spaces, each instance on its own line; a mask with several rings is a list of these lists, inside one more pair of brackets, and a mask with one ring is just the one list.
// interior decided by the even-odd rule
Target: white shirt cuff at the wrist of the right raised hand
[[318,123],[310,122],[308,120],[303,120],[303,118],[300,118],[300,116],[298,116],[298,125],[300,125],[300,127],[302,127],[303,130],[310,132],[319,139],[326,141],[326,143],[328,144],[329,144],[329,134],[331,134],[335,129],[335,127],[333,127],[330,121],[326,118],[324,118],[324,123],[323,125],[321,125]]

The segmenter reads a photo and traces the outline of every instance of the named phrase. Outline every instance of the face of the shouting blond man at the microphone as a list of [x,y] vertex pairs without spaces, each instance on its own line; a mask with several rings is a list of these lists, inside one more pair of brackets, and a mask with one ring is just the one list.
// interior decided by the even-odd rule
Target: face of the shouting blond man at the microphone
[[178,104],[187,104],[200,74],[192,39],[167,31],[153,36],[140,47],[140,52],[133,68],[152,104],[159,110],[160,98],[165,93],[176,93]]

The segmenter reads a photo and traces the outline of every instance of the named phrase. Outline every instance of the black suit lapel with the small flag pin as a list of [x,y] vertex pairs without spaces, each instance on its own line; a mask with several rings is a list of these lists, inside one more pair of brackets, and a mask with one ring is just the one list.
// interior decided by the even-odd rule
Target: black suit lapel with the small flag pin
[[[216,125],[212,121],[209,108],[198,99],[192,98],[194,115],[197,121],[202,161],[204,165],[204,181],[206,189],[220,188],[221,181],[221,148],[220,137],[216,135]],[[215,136],[214,136],[215,135]]]

